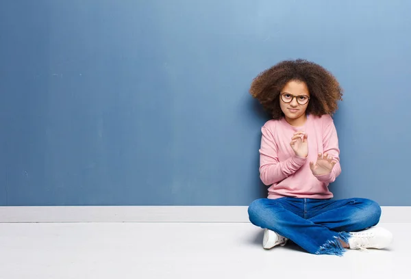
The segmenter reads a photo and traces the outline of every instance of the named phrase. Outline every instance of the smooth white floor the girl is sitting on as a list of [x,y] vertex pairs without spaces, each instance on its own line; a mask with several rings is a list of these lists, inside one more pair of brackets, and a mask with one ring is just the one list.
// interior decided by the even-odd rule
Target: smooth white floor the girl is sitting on
[[262,249],[247,223],[0,224],[0,278],[409,278],[411,224],[387,250]]

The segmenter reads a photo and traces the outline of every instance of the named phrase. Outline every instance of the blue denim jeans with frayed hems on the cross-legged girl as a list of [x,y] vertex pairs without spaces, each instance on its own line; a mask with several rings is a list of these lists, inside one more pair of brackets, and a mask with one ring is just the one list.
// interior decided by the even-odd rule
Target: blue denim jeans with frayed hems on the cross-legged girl
[[349,232],[378,224],[381,207],[364,198],[260,198],[251,202],[248,213],[255,226],[269,228],[311,254],[342,256],[339,239],[347,243]]

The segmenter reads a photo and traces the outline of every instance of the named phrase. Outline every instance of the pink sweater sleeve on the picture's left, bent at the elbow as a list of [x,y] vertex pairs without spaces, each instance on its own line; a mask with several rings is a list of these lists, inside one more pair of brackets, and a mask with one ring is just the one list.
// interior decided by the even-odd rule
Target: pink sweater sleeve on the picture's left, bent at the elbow
[[285,161],[279,161],[277,144],[266,127],[262,127],[260,147],[260,178],[264,185],[271,185],[294,174],[306,163],[306,158],[294,155]]

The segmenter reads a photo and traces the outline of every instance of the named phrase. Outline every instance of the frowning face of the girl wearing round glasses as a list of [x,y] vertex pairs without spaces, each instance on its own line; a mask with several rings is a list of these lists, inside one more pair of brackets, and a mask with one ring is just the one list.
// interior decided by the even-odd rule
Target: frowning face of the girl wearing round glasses
[[292,126],[302,126],[306,122],[309,101],[310,92],[303,81],[288,81],[279,95],[279,106]]

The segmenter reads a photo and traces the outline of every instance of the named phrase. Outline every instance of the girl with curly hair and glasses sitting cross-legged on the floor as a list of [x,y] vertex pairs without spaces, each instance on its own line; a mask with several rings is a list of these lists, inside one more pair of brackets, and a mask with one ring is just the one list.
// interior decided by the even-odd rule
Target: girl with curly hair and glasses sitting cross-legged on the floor
[[260,178],[268,198],[249,205],[264,228],[263,247],[297,243],[311,254],[342,256],[345,248],[385,248],[393,236],[373,227],[381,208],[364,198],[332,200],[341,172],[332,114],[343,90],[325,68],[303,59],[280,62],[251,83],[250,93],[273,119],[262,127]]

